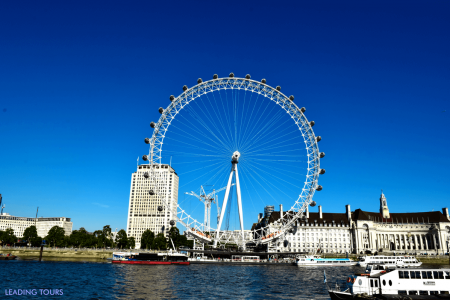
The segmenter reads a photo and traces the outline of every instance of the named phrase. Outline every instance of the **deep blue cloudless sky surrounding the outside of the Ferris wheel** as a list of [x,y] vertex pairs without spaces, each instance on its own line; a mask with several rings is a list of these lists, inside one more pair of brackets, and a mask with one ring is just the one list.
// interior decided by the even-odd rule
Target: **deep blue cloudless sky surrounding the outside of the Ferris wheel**
[[[326,152],[325,212],[450,199],[448,1],[5,2],[0,193],[16,216],[125,228],[168,96],[249,73],[295,95]],[[182,192],[182,191],[180,191]],[[261,212],[263,204],[261,204]],[[252,221],[250,212],[246,224]],[[256,215],[254,215],[256,219]]]

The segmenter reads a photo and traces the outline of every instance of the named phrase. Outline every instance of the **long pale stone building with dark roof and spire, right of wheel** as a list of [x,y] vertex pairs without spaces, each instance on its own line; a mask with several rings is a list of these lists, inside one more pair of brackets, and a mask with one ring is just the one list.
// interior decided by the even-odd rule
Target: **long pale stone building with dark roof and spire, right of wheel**
[[[289,213],[289,212],[286,212]],[[275,232],[276,222],[283,214],[274,211],[273,206],[265,209],[264,216],[258,215],[258,222],[252,229],[269,226]],[[344,213],[305,212],[305,218],[298,220],[284,240],[278,240],[269,248],[280,252],[325,253],[431,253],[445,254],[450,247],[450,218],[448,208],[442,212],[391,213],[383,193],[380,196],[380,211],[367,212],[350,210]]]

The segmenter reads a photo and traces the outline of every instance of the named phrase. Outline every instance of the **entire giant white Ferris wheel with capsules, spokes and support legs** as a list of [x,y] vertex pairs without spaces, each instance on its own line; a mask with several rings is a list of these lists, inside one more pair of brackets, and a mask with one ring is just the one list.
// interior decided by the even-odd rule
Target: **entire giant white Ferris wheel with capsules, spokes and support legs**
[[[150,123],[153,134],[145,139],[150,147],[143,158],[151,165],[150,177],[161,164],[171,164],[178,173],[176,206],[157,187],[149,193],[159,196],[189,234],[215,246],[270,243],[289,232],[308,205],[315,205],[325,153],[319,152],[315,122],[308,121],[294,96],[265,79],[231,73],[198,79],[168,98],[168,106],[159,108],[159,120]],[[202,203],[181,197],[200,186],[224,192],[214,199],[217,223],[202,220]],[[274,223],[252,226],[260,221],[263,206],[277,204],[286,209]]]

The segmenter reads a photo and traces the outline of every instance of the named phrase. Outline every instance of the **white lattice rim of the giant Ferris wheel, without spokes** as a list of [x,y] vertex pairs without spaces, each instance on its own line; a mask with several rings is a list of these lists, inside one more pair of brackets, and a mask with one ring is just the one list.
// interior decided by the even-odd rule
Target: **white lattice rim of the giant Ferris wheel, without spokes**
[[[258,235],[255,231],[252,230],[253,242],[267,243],[272,240],[272,238],[279,237],[280,235],[285,234],[285,232],[292,226],[292,224],[301,217],[302,213],[306,209],[306,206],[312,202],[312,198],[316,191],[316,188],[320,187],[318,185],[319,172],[321,170],[320,153],[317,144],[318,140],[316,139],[315,133],[312,130],[312,125],[310,124],[310,122],[308,122],[308,119],[304,115],[303,108],[300,109],[293,102],[293,99],[290,99],[285,94],[283,94],[280,89],[278,89],[278,87],[273,88],[265,82],[258,82],[250,78],[240,77],[222,77],[214,78],[208,81],[201,81],[199,79],[199,81],[199,83],[191,88],[187,88],[186,86],[184,86],[183,93],[181,93],[178,97],[171,96],[172,102],[166,109],[163,110],[163,112],[160,111],[161,117],[159,118],[158,122],[152,122],[154,124],[154,126],[152,126],[154,127],[154,130],[152,138],[149,141],[149,163],[151,165],[150,172],[154,175],[154,166],[156,167],[157,165],[161,165],[162,146],[164,144],[164,138],[171,122],[185,106],[189,105],[192,101],[200,98],[202,95],[215,91],[237,89],[258,93],[263,95],[265,98],[274,101],[277,105],[283,108],[291,116],[292,119],[294,119],[295,124],[302,133],[303,141],[306,144],[306,150],[308,153],[308,168],[306,181],[297,200],[295,200],[290,210],[286,211],[283,217],[277,221],[275,227],[279,230],[275,232],[276,234],[274,234],[271,238],[265,238],[265,236],[261,234]],[[249,86],[251,88],[249,88]],[[187,230],[192,229],[194,231],[204,232],[205,224],[193,218],[190,214],[183,210],[178,203],[176,208],[174,209],[168,206],[167,196],[161,197],[161,200],[163,204],[171,210],[172,214],[176,218],[176,221],[185,226]],[[272,227],[274,225],[272,225]],[[266,229],[269,226],[270,225],[267,225],[260,229]],[[213,228],[211,228],[211,232],[216,230],[213,230]],[[206,237],[205,239],[211,240],[211,238]]]

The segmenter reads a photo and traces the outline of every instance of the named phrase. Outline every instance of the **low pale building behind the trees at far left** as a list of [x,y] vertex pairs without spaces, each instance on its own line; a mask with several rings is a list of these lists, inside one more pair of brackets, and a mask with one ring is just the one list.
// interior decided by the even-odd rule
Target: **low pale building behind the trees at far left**
[[30,226],[36,226],[38,236],[44,238],[53,226],[59,226],[64,229],[65,235],[72,233],[73,223],[70,218],[26,218],[15,217],[7,213],[0,215],[0,230],[5,231],[8,228],[14,230],[14,235],[23,237],[23,232]]

